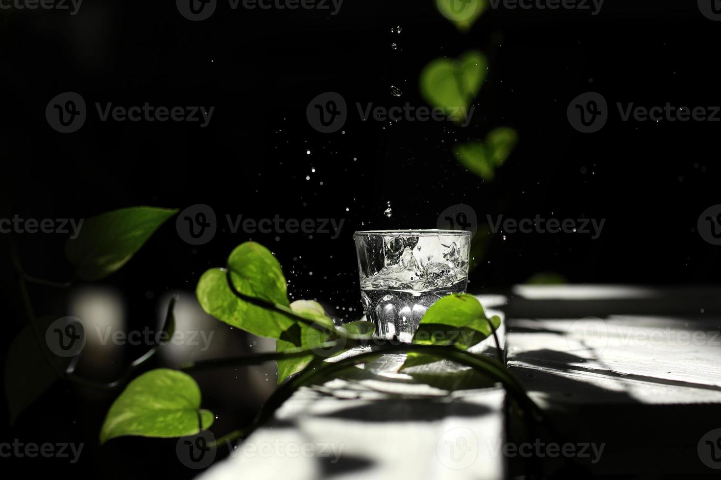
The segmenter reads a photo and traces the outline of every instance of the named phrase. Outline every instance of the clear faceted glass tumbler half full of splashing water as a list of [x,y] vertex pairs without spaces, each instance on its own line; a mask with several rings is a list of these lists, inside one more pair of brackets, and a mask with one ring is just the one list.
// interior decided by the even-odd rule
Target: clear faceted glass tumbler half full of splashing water
[[471,232],[355,232],[361,297],[376,338],[410,343],[420,319],[441,297],[464,293]]

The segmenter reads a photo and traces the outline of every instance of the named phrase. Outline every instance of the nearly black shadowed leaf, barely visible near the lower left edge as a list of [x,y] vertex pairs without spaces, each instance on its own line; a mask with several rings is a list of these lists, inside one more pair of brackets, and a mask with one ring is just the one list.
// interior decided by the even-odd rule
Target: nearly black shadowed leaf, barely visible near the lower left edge
[[[40,331],[45,332],[54,320],[52,317],[38,319]],[[48,350],[61,371],[65,371],[71,361],[71,358],[54,355],[44,343],[38,345],[30,325],[20,330],[8,348],[5,362],[5,395],[11,424],[59,379],[40,348]]]

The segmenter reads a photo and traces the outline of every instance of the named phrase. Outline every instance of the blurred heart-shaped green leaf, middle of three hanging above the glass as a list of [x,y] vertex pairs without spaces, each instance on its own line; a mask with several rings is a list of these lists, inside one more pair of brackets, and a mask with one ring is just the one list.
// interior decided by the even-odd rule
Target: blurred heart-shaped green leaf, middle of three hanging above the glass
[[420,93],[433,107],[464,123],[487,76],[487,65],[485,55],[477,50],[464,53],[459,60],[436,58],[420,73]]

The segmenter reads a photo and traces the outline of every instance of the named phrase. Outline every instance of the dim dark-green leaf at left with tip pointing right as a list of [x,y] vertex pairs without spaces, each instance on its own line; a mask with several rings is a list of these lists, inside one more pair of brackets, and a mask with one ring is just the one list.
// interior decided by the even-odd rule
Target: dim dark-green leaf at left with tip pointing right
[[65,254],[79,279],[103,279],[120,269],[176,209],[131,207],[85,220],[76,238],[68,238]]

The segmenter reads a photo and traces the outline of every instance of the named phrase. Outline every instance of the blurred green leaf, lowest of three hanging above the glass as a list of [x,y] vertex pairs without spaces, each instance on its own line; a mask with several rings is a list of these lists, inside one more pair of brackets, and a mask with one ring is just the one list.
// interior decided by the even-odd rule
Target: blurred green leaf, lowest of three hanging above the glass
[[508,127],[492,130],[485,142],[467,142],[454,147],[458,161],[472,173],[487,181],[495,178],[495,171],[505,163],[516,148],[518,133]]

